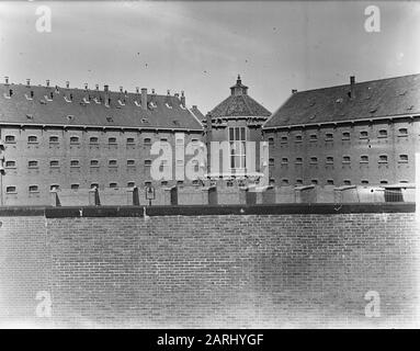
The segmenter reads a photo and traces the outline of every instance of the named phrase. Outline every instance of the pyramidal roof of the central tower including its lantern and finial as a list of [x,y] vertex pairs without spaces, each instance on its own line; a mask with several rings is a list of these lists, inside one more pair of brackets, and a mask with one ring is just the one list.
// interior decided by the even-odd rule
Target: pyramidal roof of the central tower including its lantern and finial
[[248,87],[242,84],[240,76],[230,87],[230,97],[222,101],[211,112],[213,117],[259,116],[269,117],[271,112],[248,95]]

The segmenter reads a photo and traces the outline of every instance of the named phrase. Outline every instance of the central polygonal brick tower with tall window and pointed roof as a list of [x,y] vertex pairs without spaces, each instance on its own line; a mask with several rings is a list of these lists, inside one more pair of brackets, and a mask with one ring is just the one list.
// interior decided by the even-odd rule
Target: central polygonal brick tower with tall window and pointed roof
[[[207,149],[211,141],[228,141],[230,145],[229,169],[224,172],[223,158],[219,158],[218,172],[212,173],[212,160],[208,158],[208,174],[213,178],[232,179],[259,172],[260,141],[262,141],[262,125],[268,121],[271,112],[248,94],[248,87],[242,84],[240,76],[236,84],[230,87],[230,95],[217,104],[203,118],[206,127]],[[256,165],[247,165],[247,148],[243,143],[256,141]],[[234,145],[237,145],[236,147]],[[222,155],[222,154],[220,154]],[[227,174],[226,174],[227,173]]]

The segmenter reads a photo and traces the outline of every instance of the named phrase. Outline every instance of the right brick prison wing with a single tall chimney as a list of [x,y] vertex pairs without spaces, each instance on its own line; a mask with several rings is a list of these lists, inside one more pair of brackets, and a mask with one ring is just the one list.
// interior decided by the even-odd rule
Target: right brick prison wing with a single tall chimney
[[297,92],[264,124],[275,185],[415,182],[420,75]]

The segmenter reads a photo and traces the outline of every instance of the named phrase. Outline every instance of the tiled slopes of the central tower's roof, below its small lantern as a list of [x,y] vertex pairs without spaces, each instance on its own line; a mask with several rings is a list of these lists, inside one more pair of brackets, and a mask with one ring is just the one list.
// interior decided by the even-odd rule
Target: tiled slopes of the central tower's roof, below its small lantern
[[270,116],[271,112],[247,94],[230,95],[211,111],[213,117]]

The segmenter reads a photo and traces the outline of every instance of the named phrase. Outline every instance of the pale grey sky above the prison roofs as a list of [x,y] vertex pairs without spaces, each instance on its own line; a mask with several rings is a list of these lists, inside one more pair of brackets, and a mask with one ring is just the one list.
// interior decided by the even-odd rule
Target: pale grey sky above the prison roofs
[[[365,30],[372,4],[379,32]],[[274,112],[292,89],[420,73],[419,41],[415,1],[0,1],[0,81],[184,90],[205,114],[240,73]]]

